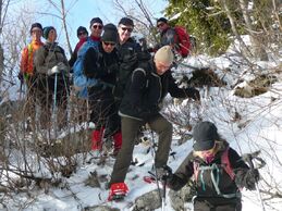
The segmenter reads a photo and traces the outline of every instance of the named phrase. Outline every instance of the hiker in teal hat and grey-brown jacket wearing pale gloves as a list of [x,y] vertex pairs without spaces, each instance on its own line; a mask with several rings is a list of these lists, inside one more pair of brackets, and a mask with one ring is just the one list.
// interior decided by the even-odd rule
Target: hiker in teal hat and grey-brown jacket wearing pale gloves
[[70,66],[64,50],[56,42],[57,30],[53,26],[44,28],[44,38],[46,44],[37,50],[35,55],[36,72],[38,73],[37,96],[40,104],[40,125],[42,128],[50,128],[51,108],[58,107],[57,122],[59,128],[62,128],[65,126],[68,117]]

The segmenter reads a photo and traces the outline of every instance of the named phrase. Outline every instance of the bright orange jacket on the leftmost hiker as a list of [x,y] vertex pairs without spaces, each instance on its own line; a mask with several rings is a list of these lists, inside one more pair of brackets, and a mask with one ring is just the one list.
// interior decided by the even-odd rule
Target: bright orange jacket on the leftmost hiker
[[44,42],[33,40],[24,48],[21,59],[21,73],[34,75],[34,54],[41,46],[44,46]]

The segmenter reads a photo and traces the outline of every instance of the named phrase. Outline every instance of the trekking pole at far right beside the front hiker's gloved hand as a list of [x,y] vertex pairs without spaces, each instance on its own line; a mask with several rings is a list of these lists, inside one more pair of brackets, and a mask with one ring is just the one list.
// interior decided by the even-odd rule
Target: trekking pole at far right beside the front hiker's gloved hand
[[[259,166],[257,169],[260,169],[260,167],[266,165],[266,162],[261,158],[258,157],[259,153],[260,153],[260,151],[255,151],[253,153],[247,153],[247,154],[242,156],[243,160],[245,160],[249,164],[249,167],[252,170],[255,169],[255,165],[254,165],[254,162],[253,162],[254,159],[256,159],[260,162]],[[259,201],[260,201],[260,204],[261,204],[261,210],[266,211],[265,203],[263,203],[263,200],[262,200],[262,197],[261,197],[261,193],[260,193],[259,187],[258,187],[258,181],[256,181],[255,185],[256,185],[257,195],[258,195],[258,198],[259,198]]]

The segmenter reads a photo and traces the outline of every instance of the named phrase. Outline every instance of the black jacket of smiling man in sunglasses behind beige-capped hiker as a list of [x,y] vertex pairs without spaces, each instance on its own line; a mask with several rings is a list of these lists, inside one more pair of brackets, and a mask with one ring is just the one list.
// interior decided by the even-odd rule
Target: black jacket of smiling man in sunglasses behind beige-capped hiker
[[128,76],[136,67],[137,52],[142,51],[142,47],[134,39],[128,38],[126,42],[117,46],[120,70],[117,75],[117,86],[114,87],[114,97],[121,99],[126,86]]

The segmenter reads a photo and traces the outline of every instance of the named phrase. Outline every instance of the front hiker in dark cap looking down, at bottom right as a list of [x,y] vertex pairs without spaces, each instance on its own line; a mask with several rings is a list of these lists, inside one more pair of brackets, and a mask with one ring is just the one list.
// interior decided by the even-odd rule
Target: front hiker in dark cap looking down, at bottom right
[[196,183],[195,211],[241,211],[241,191],[254,190],[258,170],[249,169],[237,152],[220,138],[211,122],[200,122],[193,131],[196,141],[174,174],[167,176],[168,186],[180,190],[192,176]]

